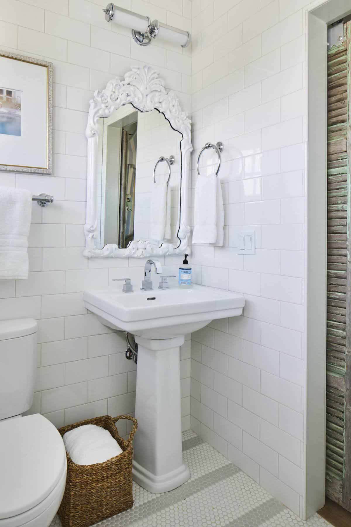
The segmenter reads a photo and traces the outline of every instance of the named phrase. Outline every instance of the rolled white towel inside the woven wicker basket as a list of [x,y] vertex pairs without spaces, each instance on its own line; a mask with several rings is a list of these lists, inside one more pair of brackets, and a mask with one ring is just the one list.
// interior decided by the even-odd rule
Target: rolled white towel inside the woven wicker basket
[[123,452],[112,435],[96,425],[82,425],[63,436],[66,451],[77,465],[103,463]]

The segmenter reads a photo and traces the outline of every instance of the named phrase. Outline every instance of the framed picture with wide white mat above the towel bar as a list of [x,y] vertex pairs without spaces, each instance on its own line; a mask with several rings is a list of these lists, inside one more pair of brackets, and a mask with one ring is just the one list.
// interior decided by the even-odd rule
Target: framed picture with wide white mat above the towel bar
[[0,50],[0,170],[52,173],[53,64]]

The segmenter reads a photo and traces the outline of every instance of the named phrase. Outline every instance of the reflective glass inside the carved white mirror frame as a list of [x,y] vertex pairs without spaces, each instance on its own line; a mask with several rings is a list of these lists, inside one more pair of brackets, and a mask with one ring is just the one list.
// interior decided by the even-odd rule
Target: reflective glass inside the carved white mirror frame
[[98,247],[177,245],[182,134],[162,113],[132,104],[99,121]]

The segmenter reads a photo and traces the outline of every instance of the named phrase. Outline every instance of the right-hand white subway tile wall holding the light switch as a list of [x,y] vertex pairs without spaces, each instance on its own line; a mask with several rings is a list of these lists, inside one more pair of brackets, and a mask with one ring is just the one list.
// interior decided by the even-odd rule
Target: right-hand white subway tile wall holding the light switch
[[[192,247],[193,278],[244,294],[246,306],[192,335],[191,425],[300,516],[309,3],[192,2],[192,203],[199,150],[223,141],[226,226],[225,247]],[[237,254],[245,229],[256,232],[253,256]]]

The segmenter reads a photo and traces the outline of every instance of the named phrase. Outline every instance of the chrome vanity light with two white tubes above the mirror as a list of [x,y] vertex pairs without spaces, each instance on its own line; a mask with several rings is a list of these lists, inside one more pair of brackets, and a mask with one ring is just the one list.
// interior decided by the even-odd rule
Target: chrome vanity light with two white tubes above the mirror
[[187,47],[190,44],[191,36],[188,31],[167,26],[158,20],[151,22],[148,16],[138,15],[114,4],[107,4],[103,12],[106,22],[114,22],[131,28],[134,42],[140,46],[147,46],[156,36],[182,47]]

